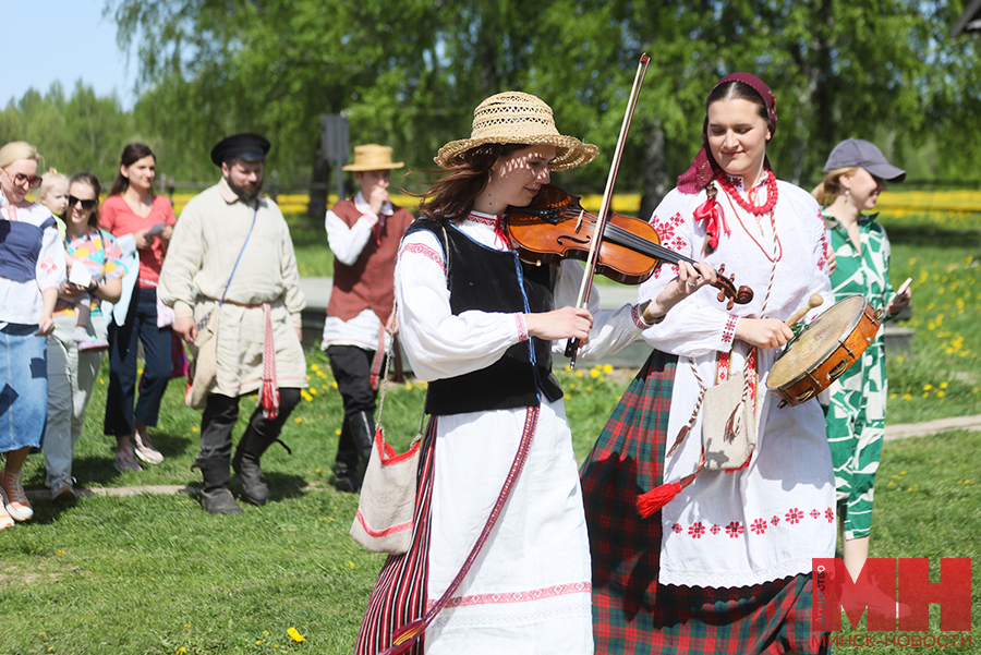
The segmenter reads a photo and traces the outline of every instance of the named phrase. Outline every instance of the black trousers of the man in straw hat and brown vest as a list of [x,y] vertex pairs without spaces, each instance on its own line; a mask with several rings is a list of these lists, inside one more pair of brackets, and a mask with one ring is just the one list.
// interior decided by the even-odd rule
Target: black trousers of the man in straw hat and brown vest
[[[328,345],[327,356],[330,357],[337,390],[344,402],[344,424],[337,444],[336,461],[348,466],[348,470],[353,470],[358,466],[359,450],[348,421],[359,412],[375,415],[375,399],[378,397],[378,391],[372,389],[372,361],[375,359],[375,351],[356,345]],[[384,360],[382,371],[385,371]]]

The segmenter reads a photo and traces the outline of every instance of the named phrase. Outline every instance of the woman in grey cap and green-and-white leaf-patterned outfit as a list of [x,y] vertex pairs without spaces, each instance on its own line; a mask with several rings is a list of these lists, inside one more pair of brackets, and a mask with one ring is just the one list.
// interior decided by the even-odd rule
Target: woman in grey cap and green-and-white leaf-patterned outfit
[[[835,302],[860,294],[886,320],[908,304],[908,289],[893,296],[889,283],[889,240],[875,222],[875,208],[886,182],[901,182],[906,171],[891,165],[874,144],[843,141],[827,158],[824,181],[813,195],[823,207],[837,267],[831,275]],[[845,567],[858,579],[869,556],[872,485],[885,434],[886,374],[883,330],[861,359],[828,389],[827,438],[835,465],[838,515]]]

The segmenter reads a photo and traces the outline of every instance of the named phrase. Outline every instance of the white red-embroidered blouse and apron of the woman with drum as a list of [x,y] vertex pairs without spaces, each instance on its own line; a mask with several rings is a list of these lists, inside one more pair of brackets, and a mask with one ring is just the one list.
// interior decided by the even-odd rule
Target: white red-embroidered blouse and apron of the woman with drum
[[[730,178],[744,194],[742,180]],[[705,191],[686,195],[671,191],[651,223],[662,243],[688,257],[705,258],[716,269],[725,265],[737,287],[747,284],[753,300],[731,311],[705,287],[679,303],[665,320],[644,331],[652,347],[679,355],[668,420],[668,445],[674,442],[695,407],[700,384],[727,377],[746,366],[749,345],[735,341],[740,317],[785,320],[804,306],[811,294],[825,299],[806,320],[831,305],[825,257],[824,221],[816,202],[804,191],[777,183],[778,201],[761,220],[719,190],[728,234],[720,230],[717,250],[703,256],[704,223],[692,213],[706,199]],[[743,197],[746,197],[743,195]],[[755,205],[766,199],[765,179],[755,190]],[[663,266],[641,286],[641,298],[658,293],[671,279]],[[728,355],[731,351],[731,355]],[[777,409],[766,390],[766,377],[779,354],[756,351],[754,383],[756,448],[750,464],[736,472],[703,470],[662,511],[661,582],[674,585],[734,587],[759,584],[811,571],[811,558],[832,557],[835,546],[834,473],[824,417],[816,402]],[[731,360],[730,367],[725,367]],[[665,461],[665,482],[692,473],[701,453],[701,416],[681,447]]]

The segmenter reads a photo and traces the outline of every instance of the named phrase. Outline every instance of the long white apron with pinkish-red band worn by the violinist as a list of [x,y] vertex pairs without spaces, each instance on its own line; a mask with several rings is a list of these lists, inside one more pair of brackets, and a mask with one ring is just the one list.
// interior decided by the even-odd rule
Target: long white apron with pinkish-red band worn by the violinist
[[[518,452],[525,412],[437,420],[431,605],[459,573],[487,521]],[[560,400],[542,404],[518,483],[425,644],[427,655],[593,652],[589,537]]]

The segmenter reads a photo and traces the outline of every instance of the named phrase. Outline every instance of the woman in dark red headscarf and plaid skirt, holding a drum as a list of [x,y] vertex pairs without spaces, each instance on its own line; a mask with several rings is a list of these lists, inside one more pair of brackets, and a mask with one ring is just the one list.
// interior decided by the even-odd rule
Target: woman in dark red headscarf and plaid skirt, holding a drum
[[[765,381],[792,337],[784,320],[811,294],[826,307],[831,287],[818,204],[766,159],[776,119],[762,81],[723,77],[702,149],[651,219],[663,245],[728,264],[755,294],[727,311],[701,290],[645,329],[655,351],[583,465],[597,652],[818,648],[811,558],[835,545],[824,422],[816,402],[778,410]],[[662,267],[641,295],[670,277]],[[708,393],[726,380],[731,404]],[[725,429],[703,435],[717,416]],[[713,468],[703,437],[723,434],[746,454]]]

